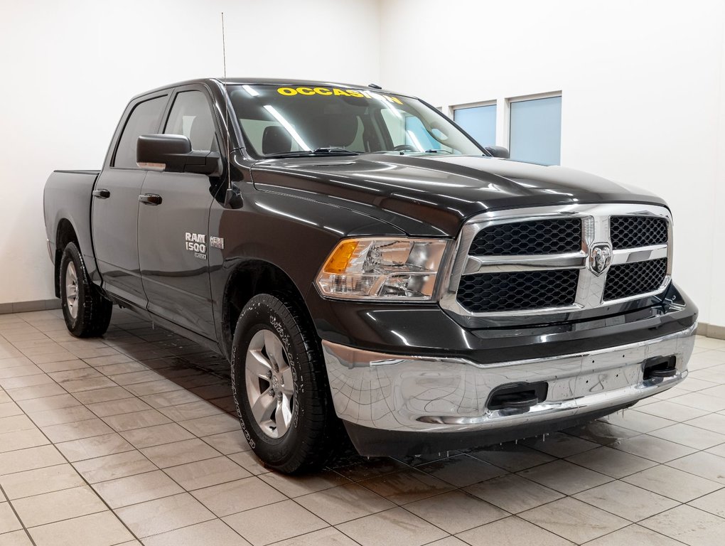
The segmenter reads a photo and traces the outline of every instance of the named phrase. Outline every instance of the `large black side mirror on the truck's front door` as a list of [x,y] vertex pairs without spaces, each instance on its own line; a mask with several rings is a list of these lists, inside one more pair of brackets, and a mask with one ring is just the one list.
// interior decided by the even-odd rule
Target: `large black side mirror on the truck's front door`
[[191,149],[191,141],[183,135],[141,135],[136,142],[136,163],[139,167],[164,170],[167,173],[199,173],[218,175],[222,165],[217,152]]

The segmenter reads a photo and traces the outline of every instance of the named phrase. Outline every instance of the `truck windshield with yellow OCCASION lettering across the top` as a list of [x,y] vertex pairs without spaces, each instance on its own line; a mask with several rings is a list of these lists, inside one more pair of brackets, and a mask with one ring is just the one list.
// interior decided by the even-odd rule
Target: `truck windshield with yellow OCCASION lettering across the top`
[[228,92],[247,147],[257,157],[484,154],[447,117],[407,96],[276,85],[228,86]]

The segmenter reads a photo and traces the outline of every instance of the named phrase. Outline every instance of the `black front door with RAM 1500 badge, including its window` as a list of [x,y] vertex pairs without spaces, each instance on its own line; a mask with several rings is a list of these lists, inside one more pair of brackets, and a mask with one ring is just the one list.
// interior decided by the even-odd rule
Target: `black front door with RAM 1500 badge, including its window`
[[[195,150],[219,152],[219,133],[205,88],[178,88],[172,100],[162,132],[187,136]],[[210,177],[149,171],[141,194],[160,200],[141,204],[138,213],[138,252],[147,309],[215,339],[207,260],[213,200]]]

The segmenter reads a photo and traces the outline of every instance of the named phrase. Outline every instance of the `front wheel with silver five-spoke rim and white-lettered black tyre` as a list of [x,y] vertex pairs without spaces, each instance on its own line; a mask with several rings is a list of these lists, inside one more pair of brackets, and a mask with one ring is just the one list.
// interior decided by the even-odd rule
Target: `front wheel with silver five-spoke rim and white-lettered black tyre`
[[318,339],[294,305],[270,294],[249,300],[236,323],[231,369],[241,429],[257,457],[301,473],[334,455],[344,429]]

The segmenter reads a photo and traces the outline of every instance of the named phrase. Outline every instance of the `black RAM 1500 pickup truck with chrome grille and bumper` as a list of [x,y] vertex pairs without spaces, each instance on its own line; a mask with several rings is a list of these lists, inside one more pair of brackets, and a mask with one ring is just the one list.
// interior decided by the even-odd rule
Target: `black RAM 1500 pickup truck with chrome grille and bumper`
[[75,336],[113,305],[231,364],[271,468],[578,426],[687,376],[697,308],[645,191],[508,159],[378,86],[199,79],[136,96],[44,215]]

